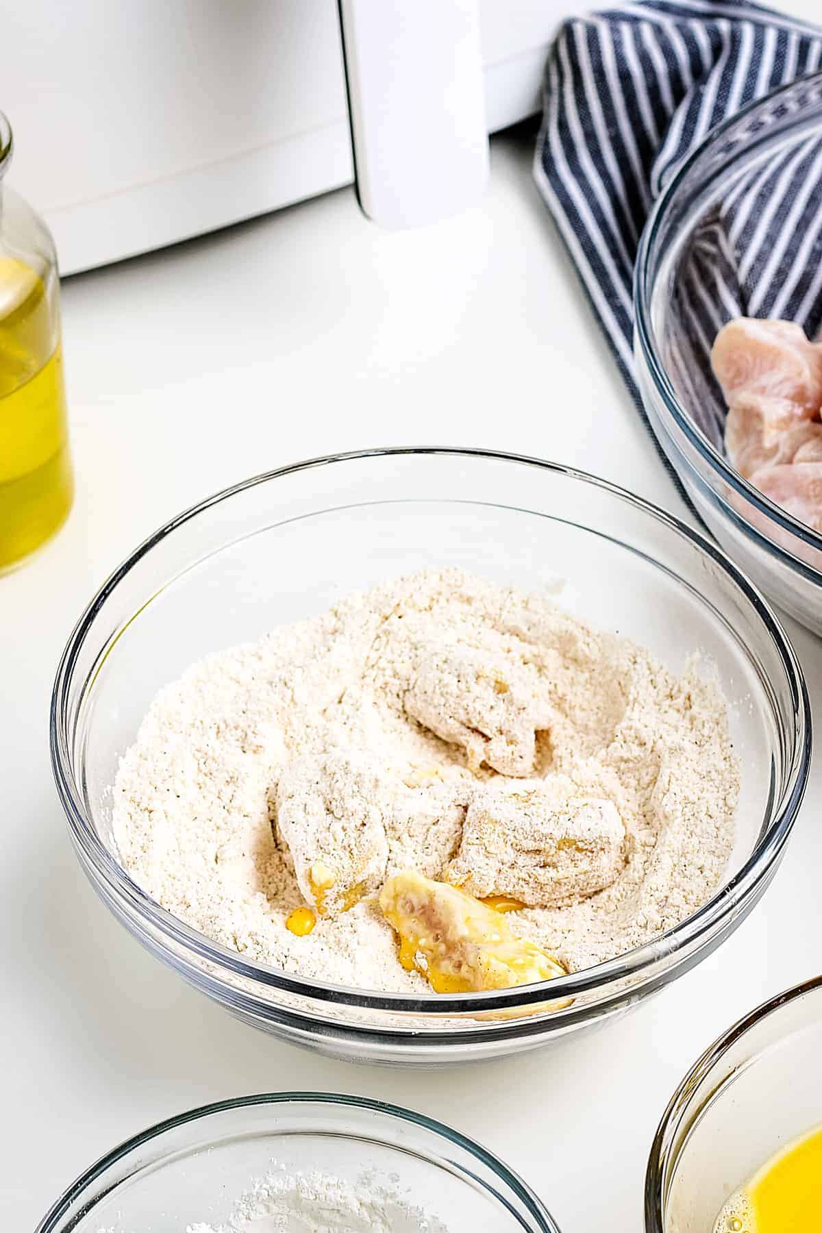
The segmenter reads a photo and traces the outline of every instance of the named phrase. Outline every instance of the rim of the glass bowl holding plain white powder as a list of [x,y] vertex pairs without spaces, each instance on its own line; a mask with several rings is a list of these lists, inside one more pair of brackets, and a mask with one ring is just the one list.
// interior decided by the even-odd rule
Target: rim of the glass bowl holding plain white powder
[[101,1178],[111,1165],[116,1164],[118,1160],[124,1159],[131,1155],[132,1152],[138,1150],[145,1143],[150,1143],[152,1139],[159,1138],[159,1136],[165,1134],[168,1131],[175,1131],[180,1126],[186,1126],[189,1122],[203,1121],[207,1117],[218,1116],[219,1113],[229,1112],[237,1108],[253,1108],[260,1105],[277,1107],[280,1105],[320,1105],[325,1108],[349,1108],[359,1110],[362,1112],[381,1113],[393,1121],[407,1122],[412,1126],[417,1126],[423,1131],[435,1134],[440,1139],[445,1139],[449,1143],[455,1143],[458,1148],[468,1152],[470,1155],[474,1157],[482,1164],[487,1165],[492,1173],[495,1174],[508,1189],[520,1198],[527,1210],[529,1216],[535,1217],[540,1222],[540,1229],[542,1233],[560,1233],[560,1227],[551,1216],[551,1212],[542,1203],[539,1195],[529,1186],[526,1181],[520,1178],[518,1173],[510,1169],[504,1160],[502,1160],[493,1152],[489,1152],[481,1143],[474,1139],[461,1134],[460,1131],[454,1129],[451,1126],[446,1126],[445,1122],[439,1122],[436,1118],[428,1117],[425,1113],[417,1113],[414,1110],[404,1108],[402,1105],[392,1105],[382,1100],[371,1100],[367,1096],[349,1096],[340,1092],[328,1092],[328,1091],[275,1091],[275,1092],[260,1092],[251,1096],[234,1096],[230,1100],[218,1100],[208,1105],[200,1105],[196,1108],[185,1110],[182,1113],[175,1113],[173,1117],[166,1117],[161,1122],[155,1122],[153,1126],[147,1127],[138,1134],[133,1134],[128,1139],[123,1139],[105,1155],[100,1157],[94,1164],[89,1165],[67,1189],[62,1195],[52,1203],[49,1210],[46,1212],[39,1224],[37,1226],[35,1233],[52,1233],[55,1228],[57,1221],[67,1212],[68,1207],[80,1198],[89,1186]]

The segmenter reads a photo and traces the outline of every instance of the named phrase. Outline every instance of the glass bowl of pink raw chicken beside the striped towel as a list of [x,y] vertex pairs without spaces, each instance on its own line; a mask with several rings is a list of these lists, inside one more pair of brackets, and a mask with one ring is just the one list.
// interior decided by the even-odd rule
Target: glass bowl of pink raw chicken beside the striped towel
[[645,229],[643,404],[705,525],[822,633],[822,75],[718,126]]

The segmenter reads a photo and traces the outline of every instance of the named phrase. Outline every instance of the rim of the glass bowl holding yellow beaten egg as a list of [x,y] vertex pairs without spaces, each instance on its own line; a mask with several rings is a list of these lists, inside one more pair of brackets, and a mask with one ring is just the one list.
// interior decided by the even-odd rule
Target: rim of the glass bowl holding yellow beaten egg
[[677,1090],[668,1101],[664,1113],[659,1120],[657,1126],[653,1142],[651,1144],[651,1152],[648,1154],[648,1164],[645,1175],[645,1231],[646,1233],[664,1233],[663,1224],[663,1212],[662,1212],[662,1184],[665,1169],[669,1163],[670,1150],[665,1142],[668,1137],[669,1128],[672,1124],[677,1123],[680,1115],[688,1107],[694,1091],[702,1084],[702,1081],[710,1075],[720,1063],[726,1053],[733,1048],[737,1041],[741,1041],[752,1028],[757,1027],[764,1020],[769,1018],[771,1015],[778,1015],[780,1010],[785,1006],[790,1006],[791,1002],[796,1001],[797,997],[805,997],[806,994],[816,993],[822,990],[822,975],[812,977],[808,980],[801,981],[799,985],[791,985],[790,989],[783,990],[783,993],[774,994],[773,997],[768,997],[754,1010],[748,1011],[742,1018],[738,1018],[727,1031],[722,1032],[721,1036],[709,1044],[704,1053],[694,1062],[694,1064],[688,1069],[685,1075],[679,1080]]

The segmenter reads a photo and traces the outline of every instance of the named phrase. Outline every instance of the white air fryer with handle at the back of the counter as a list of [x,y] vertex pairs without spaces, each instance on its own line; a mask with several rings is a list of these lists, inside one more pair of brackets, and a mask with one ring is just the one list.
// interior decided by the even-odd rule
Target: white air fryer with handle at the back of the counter
[[[539,110],[561,0],[26,0],[0,109],[63,272],[350,184],[409,227],[477,201]],[[354,142],[352,142],[354,139]],[[354,155],[352,155],[354,144]]]

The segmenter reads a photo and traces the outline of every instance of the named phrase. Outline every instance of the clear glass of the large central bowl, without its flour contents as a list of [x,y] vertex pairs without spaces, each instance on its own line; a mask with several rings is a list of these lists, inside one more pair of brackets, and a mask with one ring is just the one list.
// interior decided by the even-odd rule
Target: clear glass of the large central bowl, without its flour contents
[[[210,652],[423,567],[456,566],[645,645],[695,652],[730,708],[741,763],[722,884],[674,928],[552,980],[383,993],[306,979],[173,916],[122,868],[118,762],[158,690]],[[612,485],[481,450],[394,449],[286,466],[202,502],[92,598],[58,668],[52,760],[79,861],[112,914],[233,1015],[352,1060],[441,1065],[534,1048],[624,1015],[710,954],[765,891],[808,774],[810,709],[779,621],[715,544]],[[352,974],[354,975],[354,974]]]

